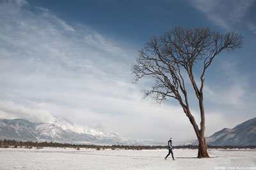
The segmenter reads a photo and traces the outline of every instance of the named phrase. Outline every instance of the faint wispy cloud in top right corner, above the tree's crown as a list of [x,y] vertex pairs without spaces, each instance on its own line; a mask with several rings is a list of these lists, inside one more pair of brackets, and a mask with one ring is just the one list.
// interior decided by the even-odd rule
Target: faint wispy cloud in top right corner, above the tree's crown
[[239,1],[207,1],[193,0],[193,6],[207,15],[215,24],[223,29],[230,30],[234,24],[241,21],[246,10],[253,3],[253,0]]

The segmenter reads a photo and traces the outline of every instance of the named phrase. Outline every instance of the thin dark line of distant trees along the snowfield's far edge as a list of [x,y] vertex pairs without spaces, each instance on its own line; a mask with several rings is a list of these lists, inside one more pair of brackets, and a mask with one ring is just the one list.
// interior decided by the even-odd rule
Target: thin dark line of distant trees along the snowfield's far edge
[[[104,149],[124,149],[124,150],[156,150],[156,149],[165,149],[167,146],[134,146],[134,145],[84,145],[84,144],[71,144],[71,143],[57,143],[57,142],[33,142],[33,141],[17,141],[14,139],[0,139],[0,148],[37,148],[41,149],[44,147],[52,148],[92,148],[96,150]],[[223,148],[223,149],[232,149],[232,148],[252,148],[256,149],[256,145],[249,146],[211,146],[207,145],[208,148]],[[184,145],[184,146],[174,146],[174,149],[197,149],[196,145]]]

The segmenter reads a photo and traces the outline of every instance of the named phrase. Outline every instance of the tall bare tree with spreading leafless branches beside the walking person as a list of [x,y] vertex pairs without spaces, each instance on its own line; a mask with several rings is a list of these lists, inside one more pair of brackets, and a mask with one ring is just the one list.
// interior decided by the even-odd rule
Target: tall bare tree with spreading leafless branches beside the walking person
[[[174,27],[164,32],[163,36],[152,37],[144,48],[139,50],[137,63],[132,67],[138,81],[145,76],[154,79],[152,89],[145,91],[145,97],[152,96],[156,101],[176,99],[198,138],[198,158],[209,157],[205,143],[205,111],[203,102],[203,88],[205,71],[212,60],[223,50],[241,48],[243,37],[235,32],[220,34],[209,28],[184,28]],[[199,83],[196,82],[193,67],[202,67]],[[189,82],[195,90],[200,108],[200,128],[191,114],[188,101],[188,92],[184,78],[189,77]],[[199,85],[199,86],[198,86]]]

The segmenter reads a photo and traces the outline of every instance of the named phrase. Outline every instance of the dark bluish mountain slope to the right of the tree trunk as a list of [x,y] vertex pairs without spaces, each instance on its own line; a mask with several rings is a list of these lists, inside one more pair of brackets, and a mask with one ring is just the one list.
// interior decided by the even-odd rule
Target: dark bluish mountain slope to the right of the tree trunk
[[[224,128],[215,132],[206,138],[206,143],[212,146],[256,145],[256,118],[247,120],[233,129]],[[193,145],[198,145],[198,141]]]

